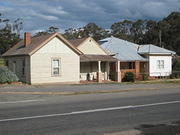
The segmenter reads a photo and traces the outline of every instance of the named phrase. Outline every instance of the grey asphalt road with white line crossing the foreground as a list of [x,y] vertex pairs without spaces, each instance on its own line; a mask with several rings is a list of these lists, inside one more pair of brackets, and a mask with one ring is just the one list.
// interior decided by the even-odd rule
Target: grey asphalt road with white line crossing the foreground
[[180,90],[0,102],[0,135],[103,135],[180,120]]

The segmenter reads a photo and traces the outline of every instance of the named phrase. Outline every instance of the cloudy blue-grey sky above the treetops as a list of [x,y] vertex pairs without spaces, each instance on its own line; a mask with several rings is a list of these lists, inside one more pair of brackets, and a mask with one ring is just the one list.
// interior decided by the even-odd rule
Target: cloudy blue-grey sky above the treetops
[[94,22],[109,28],[124,19],[160,20],[180,10],[180,0],[0,0],[0,13],[23,20],[23,31],[36,33],[55,26],[68,28]]

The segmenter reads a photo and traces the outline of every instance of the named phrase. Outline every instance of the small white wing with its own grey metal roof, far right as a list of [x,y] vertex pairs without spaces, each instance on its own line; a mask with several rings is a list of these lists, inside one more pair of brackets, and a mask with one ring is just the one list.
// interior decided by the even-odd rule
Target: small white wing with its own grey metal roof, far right
[[149,59],[149,76],[169,76],[172,73],[173,51],[149,44],[140,45],[138,53]]

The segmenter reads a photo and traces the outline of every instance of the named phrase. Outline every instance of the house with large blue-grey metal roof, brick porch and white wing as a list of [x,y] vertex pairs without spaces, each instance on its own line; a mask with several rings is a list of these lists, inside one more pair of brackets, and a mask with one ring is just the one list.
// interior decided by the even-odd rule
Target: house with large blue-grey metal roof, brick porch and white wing
[[175,52],[155,46],[138,45],[119,38],[109,37],[99,41],[101,47],[121,62],[121,72],[134,72],[136,78],[169,76]]

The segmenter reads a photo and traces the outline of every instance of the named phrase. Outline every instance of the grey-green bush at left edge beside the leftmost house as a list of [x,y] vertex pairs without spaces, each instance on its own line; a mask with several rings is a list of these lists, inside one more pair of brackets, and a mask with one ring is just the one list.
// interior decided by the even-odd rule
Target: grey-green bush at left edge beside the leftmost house
[[7,67],[0,67],[0,83],[18,82],[19,78]]

